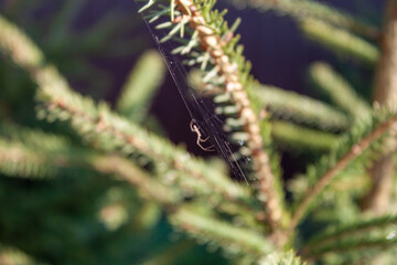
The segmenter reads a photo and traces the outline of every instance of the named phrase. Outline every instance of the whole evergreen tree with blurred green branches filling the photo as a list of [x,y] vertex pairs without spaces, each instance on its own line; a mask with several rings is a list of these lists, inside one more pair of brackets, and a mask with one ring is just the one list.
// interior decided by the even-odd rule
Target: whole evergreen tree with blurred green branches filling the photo
[[[324,99],[255,80],[244,21],[215,0],[105,7],[85,30],[89,1],[0,4],[1,264],[394,264],[396,1],[382,23],[314,0],[225,2],[289,15],[348,62],[308,68]],[[131,38],[143,21],[159,52]],[[140,54],[116,99],[93,51]],[[165,66],[196,144],[226,162],[173,144],[150,112]],[[305,172],[283,178],[283,152]]]

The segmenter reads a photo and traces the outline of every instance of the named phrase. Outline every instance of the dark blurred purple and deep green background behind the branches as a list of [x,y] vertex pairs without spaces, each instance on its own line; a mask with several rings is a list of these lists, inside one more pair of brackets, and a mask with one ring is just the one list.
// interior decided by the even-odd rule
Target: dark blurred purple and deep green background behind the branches
[[[383,0],[320,2],[365,17],[374,24],[382,23]],[[245,55],[253,63],[251,73],[259,82],[319,97],[308,85],[305,72],[312,62],[326,61],[344,73],[355,87],[360,87],[364,97],[371,97],[371,68],[345,56],[334,56],[304,39],[291,18],[272,11],[258,12],[227,0],[219,1],[218,8],[229,10],[226,18],[230,21],[237,17],[243,19],[238,33],[243,35]],[[137,14],[133,0],[0,0],[0,12],[37,43],[47,60],[67,77],[72,87],[110,104],[118,98],[140,55],[148,49],[155,49],[152,36]],[[30,109],[31,103],[19,98],[19,92],[24,84],[28,85],[29,78],[21,72],[9,71],[4,62],[0,62],[1,75],[14,75],[13,83],[6,84],[8,104],[12,105],[14,100],[14,116]],[[151,112],[172,141],[186,145],[194,153],[207,156],[195,145],[196,136],[189,128],[191,117],[170,75],[157,93]],[[19,121],[29,124],[29,118],[23,117],[25,120]],[[310,159],[304,153],[282,152],[286,178],[303,170],[304,163],[298,157]],[[45,184],[30,181],[20,184],[13,181],[2,180],[0,184],[0,243],[11,243],[45,262],[136,264],[144,262],[153,252],[163,250],[168,242],[179,242],[182,236],[172,231],[167,222],[159,222],[154,230],[141,234],[139,223],[131,223],[117,233],[110,233],[96,221],[95,213],[99,205],[93,202],[103,193],[119,200],[119,193],[109,191],[109,186],[127,188],[117,187],[108,179],[98,181],[86,174],[78,181],[66,178]],[[76,183],[71,186],[73,181]],[[128,192],[122,194],[122,200],[136,197]],[[150,206],[148,209],[150,211]],[[45,216],[46,211],[54,218],[43,222],[41,216]],[[41,231],[40,236],[37,231]],[[178,256],[178,253],[190,247],[192,251],[184,254],[186,257],[181,256],[172,264],[225,262],[217,252],[207,254],[204,247],[193,247],[189,240],[175,243],[173,254]]]

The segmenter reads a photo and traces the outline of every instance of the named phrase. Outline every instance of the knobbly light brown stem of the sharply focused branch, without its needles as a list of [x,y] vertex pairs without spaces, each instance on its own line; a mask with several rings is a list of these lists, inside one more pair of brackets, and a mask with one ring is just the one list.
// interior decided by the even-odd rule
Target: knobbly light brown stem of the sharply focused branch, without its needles
[[267,220],[271,227],[280,226],[282,209],[275,190],[269,156],[264,150],[258,117],[250,106],[250,100],[239,80],[238,67],[232,63],[223,50],[223,40],[214,32],[192,0],[176,0],[176,8],[184,13],[190,28],[198,34],[201,49],[207,52],[224,77],[224,91],[228,93],[238,110],[238,117],[244,120],[244,130],[249,135],[248,148],[251,151],[254,170],[258,179],[259,198],[264,198]]

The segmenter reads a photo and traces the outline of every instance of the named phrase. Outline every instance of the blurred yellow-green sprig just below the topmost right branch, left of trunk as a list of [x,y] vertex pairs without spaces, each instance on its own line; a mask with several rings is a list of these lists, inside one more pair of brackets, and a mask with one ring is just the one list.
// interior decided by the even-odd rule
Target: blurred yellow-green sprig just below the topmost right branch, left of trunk
[[379,57],[379,51],[375,45],[320,20],[302,20],[300,29],[309,39],[334,51],[336,54],[355,59],[368,66],[376,64]]

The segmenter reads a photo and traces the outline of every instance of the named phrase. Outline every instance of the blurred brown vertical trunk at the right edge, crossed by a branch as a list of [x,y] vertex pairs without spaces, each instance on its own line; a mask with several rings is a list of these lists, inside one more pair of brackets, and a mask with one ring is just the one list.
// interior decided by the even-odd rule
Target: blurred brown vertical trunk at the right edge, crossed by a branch
[[[397,3],[388,0],[385,7],[386,21],[382,32],[380,50],[382,54],[375,73],[374,102],[380,106],[397,109]],[[396,135],[396,131],[395,131]],[[394,139],[386,139],[386,145],[397,148]],[[391,182],[394,176],[394,165],[390,153],[374,163],[371,169],[373,188],[363,201],[363,208],[377,214],[385,214],[391,194]]]

